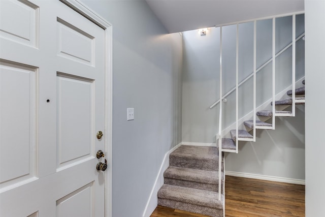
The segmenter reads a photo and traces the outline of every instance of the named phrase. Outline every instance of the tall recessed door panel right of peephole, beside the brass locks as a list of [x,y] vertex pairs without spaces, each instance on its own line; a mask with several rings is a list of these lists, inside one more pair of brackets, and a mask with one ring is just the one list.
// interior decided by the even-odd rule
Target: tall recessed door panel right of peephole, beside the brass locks
[[[78,93],[78,97],[76,95]],[[94,81],[57,76],[58,167],[93,157]]]

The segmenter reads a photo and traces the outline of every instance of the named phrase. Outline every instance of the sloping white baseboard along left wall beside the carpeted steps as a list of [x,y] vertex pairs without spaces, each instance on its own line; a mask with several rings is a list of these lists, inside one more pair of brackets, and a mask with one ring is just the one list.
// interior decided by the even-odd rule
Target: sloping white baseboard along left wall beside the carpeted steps
[[158,205],[158,199],[157,199],[157,193],[161,186],[164,184],[164,172],[169,167],[169,154],[172,153],[174,150],[176,150],[179,146],[182,145],[182,142],[173,147],[171,150],[169,150],[163,159],[163,162],[161,163],[160,169],[158,171],[156,180],[154,181],[146,208],[143,211],[142,217],[149,217],[151,213],[154,211],[154,209]]

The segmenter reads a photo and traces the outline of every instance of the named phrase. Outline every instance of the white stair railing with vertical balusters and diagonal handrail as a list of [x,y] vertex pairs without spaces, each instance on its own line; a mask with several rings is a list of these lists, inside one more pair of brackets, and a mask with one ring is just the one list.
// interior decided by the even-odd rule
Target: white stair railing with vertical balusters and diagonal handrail
[[[291,116],[295,116],[295,104],[296,104],[296,41],[300,40],[302,37],[305,36],[303,33],[298,38],[296,38],[296,14],[292,15],[293,18],[293,33],[292,33],[292,42],[284,47],[282,50],[280,50],[277,54],[275,53],[275,21],[276,17],[272,17],[272,57],[266,61],[265,64],[263,64],[261,67],[256,69],[256,21],[254,22],[254,40],[253,40],[253,72],[247,76],[243,81],[238,83],[238,74],[239,74],[239,23],[234,23],[237,26],[236,29],[236,86],[232,88],[230,91],[228,91],[225,95],[222,96],[222,25],[220,25],[220,74],[219,74],[219,89],[220,89],[220,96],[219,100],[214,102],[210,109],[212,109],[215,105],[223,101],[225,97],[230,95],[234,90],[236,90],[236,153],[238,153],[238,141],[240,140],[238,138],[238,131],[239,131],[239,99],[238,99],[238,89],[239,86],[245,83],[248,79],[253,77],[253,139],[250,141],[256,141],[256,129],[275,129],[275,116],[283,116],[281,114],[276,115],[275,110],[275,59],[277,56],[279,56],[281,53],[283,53],[285,50],[287,50],[290,46],[292,46],[292,112]],[[264,126],[258,126],[256,127],[256,73],[259,72],[261,69],[266,67],[269,63],[272,62],[272,127],[264,127]],[[221,163],[222,163],[222,103],[219,105],[219,129],[218,134],[216,135],[216,141],[218,142],[218,152],[219,152],[219,158],[218,158],[218,176],[219,176],[219,183],[218,183],[218,200],[221,200]],[[243,139],[245,140],[245,139]],[[249,141],[249,140],[246,140]]]

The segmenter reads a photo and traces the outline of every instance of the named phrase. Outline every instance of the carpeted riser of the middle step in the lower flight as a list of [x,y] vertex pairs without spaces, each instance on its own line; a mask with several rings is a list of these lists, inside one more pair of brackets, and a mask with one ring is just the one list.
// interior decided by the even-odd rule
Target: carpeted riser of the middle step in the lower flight
[[[200,183],[195,181],[187,181],[181,179],[174,178],[165,178],[165,184],[177,185],[181,187],[193,188],[193,189],[201,189],[206,191],[218,192],[218,182],[214,184],[210,183]],[[221,192],[223,192],[223,184],[221,182]]]

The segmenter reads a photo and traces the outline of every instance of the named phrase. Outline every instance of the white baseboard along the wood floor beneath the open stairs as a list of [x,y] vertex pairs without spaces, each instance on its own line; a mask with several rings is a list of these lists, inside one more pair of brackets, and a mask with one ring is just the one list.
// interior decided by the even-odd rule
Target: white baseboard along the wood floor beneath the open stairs
[[241,172],[232,172],[232,171],[225,171],[225,175],[305,185],[305,180],[302,180],[302,179],[283,178],[283,177],[277,177],[277,176],[259,175],[259,174],[257,175],[257,174],[251,174],[251,173],[241,173]]

